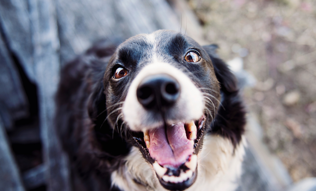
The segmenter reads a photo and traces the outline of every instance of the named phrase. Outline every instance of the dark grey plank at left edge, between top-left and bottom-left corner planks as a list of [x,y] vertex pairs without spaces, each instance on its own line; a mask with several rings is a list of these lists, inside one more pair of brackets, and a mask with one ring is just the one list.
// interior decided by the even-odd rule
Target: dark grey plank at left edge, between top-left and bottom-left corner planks
[[28,116],[28,101],[21,79],[9,51],[0,35],[0,114],[7,130],[13,120]]

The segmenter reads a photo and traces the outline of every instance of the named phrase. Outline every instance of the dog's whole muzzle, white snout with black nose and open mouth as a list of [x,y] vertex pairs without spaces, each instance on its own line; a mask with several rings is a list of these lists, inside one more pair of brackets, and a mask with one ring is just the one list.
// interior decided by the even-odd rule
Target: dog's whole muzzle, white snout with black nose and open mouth
[[167,63],[144,67],[132,81],[123,106],[128,127],[164,188],[184,190],[197,177],[204,131],[204,102],[191,79]]

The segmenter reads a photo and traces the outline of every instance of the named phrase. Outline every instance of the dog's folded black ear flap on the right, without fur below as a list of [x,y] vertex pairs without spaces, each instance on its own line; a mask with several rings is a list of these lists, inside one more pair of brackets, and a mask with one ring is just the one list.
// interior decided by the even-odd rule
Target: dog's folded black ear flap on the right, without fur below
[[227,64],[225,64],[225,62],[223,62],[216,54],[218,46],[216,44],[211,44],[204,46],[203,48],[210,56],[216,78],[221,84],[221,90],[229,93],[237,91],[237,80],[234,74],[230,71]]

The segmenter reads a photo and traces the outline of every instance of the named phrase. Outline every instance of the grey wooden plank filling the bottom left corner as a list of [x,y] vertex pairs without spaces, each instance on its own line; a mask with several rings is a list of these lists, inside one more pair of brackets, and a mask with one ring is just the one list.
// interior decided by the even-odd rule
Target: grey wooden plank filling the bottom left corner
[[0,116],[0,190],[25,191]]

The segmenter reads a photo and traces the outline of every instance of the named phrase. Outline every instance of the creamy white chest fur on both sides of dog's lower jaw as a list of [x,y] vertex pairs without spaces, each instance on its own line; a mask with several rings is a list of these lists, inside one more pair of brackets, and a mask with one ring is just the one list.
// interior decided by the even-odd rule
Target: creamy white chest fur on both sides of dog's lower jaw
[[[241,164],[245,154],[246,141],[242,138],[234,146],[230,140],[217,135],[207,135],[198,154],[197,180],[186,191],[233,191],[241,176]],[[166,190],[163,188],[149,163],[138,148],[133,147],[125,158],[125,164],[112,173],[112,186],[122,191]]]

